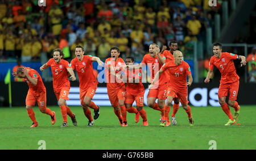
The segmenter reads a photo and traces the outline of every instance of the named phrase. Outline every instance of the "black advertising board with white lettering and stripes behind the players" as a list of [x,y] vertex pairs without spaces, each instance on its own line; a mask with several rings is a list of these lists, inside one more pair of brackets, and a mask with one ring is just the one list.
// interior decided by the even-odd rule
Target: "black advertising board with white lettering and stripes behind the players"
[[[52,82],[45,82],[44,85],[47,89],[47,105],[57,105],[57,99],[53,92]],[[145,95],[144,104],[147,105],[147,94],[148,94],[148,84],[144,83]],[[196,107],[206,107],[208,105],[213,107],[220,106],[218,104],[218,82],[211,82],[209,84],[205,83],[193,83],[191,87],[188,88],[188,100],[189,104]],[[9,106],[9,95],[8,95],[8,85],[4,82],[0,82],[0,107]],[[12,105],[25,107],[25,100],[28,91],[27,83],[24,82],[12,82]],[[237,100],[241,105],[252,105],[256,104],[255,100],[256,84],[255,83],[240,83],[240,88],[237,96]],[[71,82],[71,90],[69,92],[68,105],[80,105],[79,100],[79,82]],[[228,98],[227,98],[228,99]],[[111,105],[106,83],[99,83],[96,94],[93,98],[94,103],[97,105]],[[135,104],[134,104],[135,105]]]

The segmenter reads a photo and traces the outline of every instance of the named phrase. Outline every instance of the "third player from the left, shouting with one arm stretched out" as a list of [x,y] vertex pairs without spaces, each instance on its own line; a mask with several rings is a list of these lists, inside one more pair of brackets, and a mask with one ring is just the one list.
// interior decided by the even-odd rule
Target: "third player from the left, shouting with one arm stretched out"
[[[92,101],[98,84],[93,74],[92,62],[97,61],[100,66],[103,66],[103,62],[98,57],[84,55],[84,48],[80,45],[76,46],[75,55],[76,58],[73,58],[71,61],[71,67],[76,69],[77,75],[79,76],[80,101],[84,115],[89,120],[87,126],[92,126],[94,120],[100,115],[100,107]],[[94,120],[88,107],[94,109]]]

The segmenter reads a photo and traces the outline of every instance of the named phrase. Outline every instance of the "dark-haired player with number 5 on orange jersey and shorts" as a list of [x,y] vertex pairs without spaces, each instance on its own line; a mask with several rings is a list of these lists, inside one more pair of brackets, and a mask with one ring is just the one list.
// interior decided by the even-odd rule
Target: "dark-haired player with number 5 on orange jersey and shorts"
[[47,67],[51,66],[53,77],[53,90],[59,101],[60,111],[63,117],[62,128],[68,126],[67,115],[71,117],[74,126],[77,126],[76,116],[68,107],[66,100],[69,100],[68,94],[70,90],[70,82],[68,80],[68,73],[71,75],[72,81],[76,81],[74,71],[69,65],[68,61],[63,60],[64,54],[61,49],[53,50],[53,58],[40,67],[44,71]]

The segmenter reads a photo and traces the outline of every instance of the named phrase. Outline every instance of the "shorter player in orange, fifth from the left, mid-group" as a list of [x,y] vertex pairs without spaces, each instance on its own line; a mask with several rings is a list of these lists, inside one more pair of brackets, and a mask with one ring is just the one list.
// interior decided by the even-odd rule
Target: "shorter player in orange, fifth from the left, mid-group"
[[[134,58],[133,57],[127,57],[126,65],[133,65],[134,64]],[[144,104],[144,86],[141,82],[142,79],[142,70],[137,69],[128,69],[125,73],[125,78],[127,85],[126,85],[126,100],[125,100],[125,107],[126,110],[129,111],[130,108],[132,108],[134,100],[136,101],[138,114],[141,115],[143,119],[143,126],[148,126],[147,122],[147,115],[146,111],[143,109]],[[139,115],[136,115],[135,122],[138,123],[139,121]]]

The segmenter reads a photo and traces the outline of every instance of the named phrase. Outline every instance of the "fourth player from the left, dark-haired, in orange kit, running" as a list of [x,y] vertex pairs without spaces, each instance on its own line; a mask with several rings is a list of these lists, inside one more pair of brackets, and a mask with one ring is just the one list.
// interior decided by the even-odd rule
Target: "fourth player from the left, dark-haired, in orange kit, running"
[[[109,100],[112,107],[114,108],[115,115],[118,117],[120,125],[127,126],[125,108],[126,87],[125,83],[123,83],[123,80],[118,77],[122,73],[125,62],[122,60],[122,58],[119,58],[120,50],[117,46],[112,47],[110,52],[111,57],[106,59],[105,63],[105,75]],[[128,112],[138,113],[137,109],[134,107],[129,108]]]

